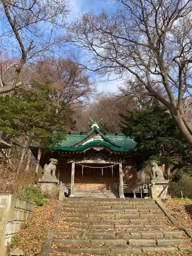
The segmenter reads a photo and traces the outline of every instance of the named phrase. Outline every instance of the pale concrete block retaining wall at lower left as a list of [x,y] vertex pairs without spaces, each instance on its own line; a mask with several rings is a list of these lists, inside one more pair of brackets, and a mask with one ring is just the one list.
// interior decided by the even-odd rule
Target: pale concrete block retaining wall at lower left
[[15,195],[0,195],[0,256],[26,221],[35,204]]

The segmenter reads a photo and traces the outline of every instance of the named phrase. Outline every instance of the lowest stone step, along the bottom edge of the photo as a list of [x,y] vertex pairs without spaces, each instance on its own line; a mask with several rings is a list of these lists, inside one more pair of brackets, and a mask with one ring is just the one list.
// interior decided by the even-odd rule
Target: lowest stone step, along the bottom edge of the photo
[[98,247],[89,247],[89,248],[53,248],[54,252],[63,252],[71,254],[88,254],[88,255],[108,255],[108,254],[133,254],[133,255],[142,255],[143,253],[150,252],[177,252],[177,251],[188,251],[192,247],[160,247],[160,246],[148,246],[148,247],[108,247],[108,248],[98,248]]

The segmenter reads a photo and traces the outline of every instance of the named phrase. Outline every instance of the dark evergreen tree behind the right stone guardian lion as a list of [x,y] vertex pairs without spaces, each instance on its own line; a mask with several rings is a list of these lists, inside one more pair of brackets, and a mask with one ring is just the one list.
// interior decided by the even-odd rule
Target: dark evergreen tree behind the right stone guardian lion
[[178,164],[175,159],[179,158],[179,164],[182,165],[181,156],[187,148],[185,154],[189,157],[189,146],[180,135],[177,125],[167,109],[157,102],[151,109],[148,107],[143,112],[128,112],[122,117],[122,132],[137,143],[138,159],[142,167],[152,160],[165,164],[169,178],[170,163]]

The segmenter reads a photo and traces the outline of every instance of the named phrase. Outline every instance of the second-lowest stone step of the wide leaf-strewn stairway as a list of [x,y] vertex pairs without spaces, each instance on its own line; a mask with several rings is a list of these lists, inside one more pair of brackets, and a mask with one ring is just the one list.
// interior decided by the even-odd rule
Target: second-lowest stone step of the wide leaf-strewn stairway
[[103,245],[103,246],[174,246],[189,244],[191,239],[187,238],[155,238],[155,239],[54,239],[53,243],[66,245]]

